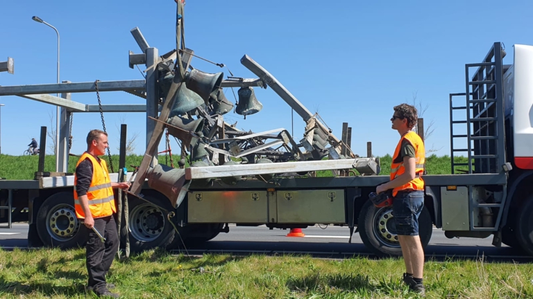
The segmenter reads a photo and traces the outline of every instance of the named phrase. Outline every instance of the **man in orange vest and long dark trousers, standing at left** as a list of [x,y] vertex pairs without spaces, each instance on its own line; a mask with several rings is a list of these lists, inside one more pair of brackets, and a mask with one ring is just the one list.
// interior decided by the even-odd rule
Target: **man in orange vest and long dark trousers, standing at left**
[[[83,153],[76,164],[74,208],[76,217],[89,229],[85,248],[89,273],[87,288],[94,291],[97,296],[119,298],[117,293],[109,291],[115,285],[105,281],[105,274],[108,273],[119,246],[113,188],[127,190],[130,188],[130,183],[111,183],[108,165],[98,157],[105,154],[107,147],[109,147],[107,133],[98,129],[89,132],[87,152]],[[101,242],[93,228],[105,238],[105,243]]]

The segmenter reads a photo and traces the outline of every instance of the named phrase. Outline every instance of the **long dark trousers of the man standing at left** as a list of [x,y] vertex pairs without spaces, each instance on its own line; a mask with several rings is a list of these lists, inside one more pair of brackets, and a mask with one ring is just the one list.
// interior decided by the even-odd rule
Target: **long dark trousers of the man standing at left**
[[105,237],[105,243],[94,233],[89,230],[89,239],[85,246],[87,255],[87,272],[89,273],[88,287],[94,291],[105,290],[105,274],[108,273],[115,253],[119,248],[119,235],[117,233],[117,224],[115,217],[108,216],[94,219],[94,228],[100,235]]

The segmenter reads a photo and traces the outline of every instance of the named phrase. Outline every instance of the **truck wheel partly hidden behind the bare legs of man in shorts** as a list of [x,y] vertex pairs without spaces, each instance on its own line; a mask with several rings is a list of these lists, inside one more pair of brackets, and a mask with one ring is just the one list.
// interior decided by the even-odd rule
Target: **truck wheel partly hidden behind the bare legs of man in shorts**
[[[359,212],[359,235],[366,248],[379,257],[402,255],[393,219],[391,206],[376,208],[371,201],[366,201]],[[418,217],[418,232],[425,248],[433,233],[430,211],[426,206]]]

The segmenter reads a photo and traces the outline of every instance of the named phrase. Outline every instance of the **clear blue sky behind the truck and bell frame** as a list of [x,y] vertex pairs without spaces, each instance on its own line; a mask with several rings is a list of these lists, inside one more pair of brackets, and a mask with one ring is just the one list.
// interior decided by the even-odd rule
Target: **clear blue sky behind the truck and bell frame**
[[[15,59],[15,75],[0,73],[0,85],[56,82],[56,33],[31,20],[37,15],[60,32],[60,80],[139,80],[128,67],[128,50],[140,53],[130,30],[138,26],[159,53],[175,47],[176,3],[172,0],[4,1],[0,18],[0,61]],[[238,77],[255,78],[239,60],[244,54],[262,64],[303,105],[319,111],[341,137],[343,122],[352,147],[366,154],[394,151],[392,107],[412,101],[424,105],[425,123],[435,131],[426,147],[449,154],[448,93],[464,92],[464,64],[480,62],[493,42],[507,47],[532,44],[531,1],[214,1],[188,0],[185,44],[197,55],[226,64]],[[194,59],[196,69],[217,66]],[[142,68],[144,70],[144,68]],[[227,69],[223,69],[229,75]],[[255,89],[264,108],[246,120],[226,114],[230,123],[253,132],[285,127],[291,109],[271,89]],[[230,89],[226,97],[235,102]],[[124,92],[102,93],[103,104],[142,104]],[[72,100],[97,104],[95,93]],[[55,107],[15,96],[0,97],[2,154],[22,154],[40,127],[55,124]],[[120,119],[130,134],[139,132],[144,153],[145,114],[105,114],[112,153],[118,154]],[[55,125],[54,125],[55,126]],[[296,141],[305,123],[294,114]],[[75,114],[71,152],[85,150],[90,129],[101,129],[99,114]],[[49,141],[50,143],[50,141]],[[172,143],[178,148],[176,143]],[[164,149],[164,145],[160,146]],[[176,152],[178,152],[176,150]]]

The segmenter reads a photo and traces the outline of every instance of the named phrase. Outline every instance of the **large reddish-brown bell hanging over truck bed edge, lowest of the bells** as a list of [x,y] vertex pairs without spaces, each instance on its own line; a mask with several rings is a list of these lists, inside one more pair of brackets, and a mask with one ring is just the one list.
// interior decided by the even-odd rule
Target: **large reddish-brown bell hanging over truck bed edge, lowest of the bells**
[[185,184],[185,169],[158,164],[149,168],[146,179],[150,188],[164,194],[170,199],[172,206],[176,207],[178,195]]

